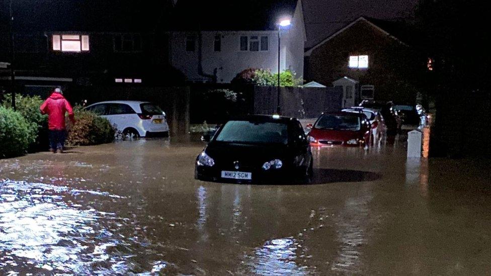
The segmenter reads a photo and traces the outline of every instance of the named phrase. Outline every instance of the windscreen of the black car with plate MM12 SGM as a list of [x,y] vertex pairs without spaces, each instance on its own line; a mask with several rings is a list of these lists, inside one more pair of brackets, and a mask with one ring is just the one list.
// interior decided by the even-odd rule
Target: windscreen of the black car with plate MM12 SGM
[[288,144],[288,126],[282,123],[228,121],[215,141],[250,144]]

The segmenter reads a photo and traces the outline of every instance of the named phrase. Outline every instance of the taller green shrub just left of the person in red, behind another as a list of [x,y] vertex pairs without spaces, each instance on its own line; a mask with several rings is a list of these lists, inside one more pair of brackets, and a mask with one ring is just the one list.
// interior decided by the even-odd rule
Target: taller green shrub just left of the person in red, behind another
[[[12,95],[4,95],[5,99],[2,106],[12,108]],[[34,141],[31,143],[31,149],[40,146],[47,147],[47,126],[48,116],[42,115],[39,112],[39,107],[43,100],[39,96],[23,96],[16,95],[16,111],[19,112],[26,122],[29,124],[29,129],[34,135]]]

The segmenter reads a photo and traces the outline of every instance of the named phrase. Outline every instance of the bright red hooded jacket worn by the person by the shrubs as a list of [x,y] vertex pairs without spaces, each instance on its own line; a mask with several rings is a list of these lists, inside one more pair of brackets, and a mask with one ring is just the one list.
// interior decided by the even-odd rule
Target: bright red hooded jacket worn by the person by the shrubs
[[51,94],[40,107],[41,114],[48,114],[48,128],[50,130],[65,129],[65,112],[68,112],[68,118],[72,123],[75,123],[73,110],[60,93]]

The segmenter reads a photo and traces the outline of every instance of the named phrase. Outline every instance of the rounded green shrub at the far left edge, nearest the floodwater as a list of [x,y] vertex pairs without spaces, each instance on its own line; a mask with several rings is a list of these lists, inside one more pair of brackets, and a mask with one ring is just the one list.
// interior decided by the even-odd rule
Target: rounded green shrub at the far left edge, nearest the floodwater
[[0,157],[24,154],[34,140],[31,124],[19,112],[0,106]]

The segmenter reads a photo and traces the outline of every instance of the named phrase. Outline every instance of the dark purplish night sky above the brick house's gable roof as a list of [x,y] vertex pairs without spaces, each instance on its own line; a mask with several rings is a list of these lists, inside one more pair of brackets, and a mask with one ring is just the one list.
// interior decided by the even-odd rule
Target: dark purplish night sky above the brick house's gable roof
[[[393,19],[412,15],[418,0],[302,0],[309,48],[360,16]],[[327,24],[317,24],[329,22]],[[315,23],[315,24],[314,24]]]

